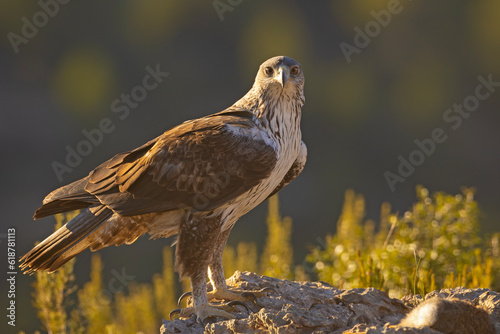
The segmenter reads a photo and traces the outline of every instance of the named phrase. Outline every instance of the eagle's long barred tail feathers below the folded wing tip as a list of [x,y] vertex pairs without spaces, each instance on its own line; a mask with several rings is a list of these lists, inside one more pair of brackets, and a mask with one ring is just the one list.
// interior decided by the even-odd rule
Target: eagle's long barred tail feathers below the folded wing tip
[[89,236],[112,215],[113,211],[103,205],[86,209],[26,253],[20,259],[21,269],[28,274],[53,272],[88,248]]

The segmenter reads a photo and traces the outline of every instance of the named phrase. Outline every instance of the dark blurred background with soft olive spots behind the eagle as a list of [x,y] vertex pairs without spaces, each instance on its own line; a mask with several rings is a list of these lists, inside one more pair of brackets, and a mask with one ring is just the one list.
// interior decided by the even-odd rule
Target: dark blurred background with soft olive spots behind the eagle
[[[393,211],[408,209],[417,184],[449,193],[472,186],[481,232],[498,231],[500,89],[456,131],[443,114],[474,93],[479,75],[500,81],[500,2],[401,0],[401,12],[347,62],[340,44],[354,45],[354,28],[364,29],[374,21],[370,12],[391,2],[70,1],[16,53],[8,34],[22,35],[23,18],[33,22],[42,7],[2,1],[0,233],[16,227],[17,253],[24,254],[52,231],[53,218],[32,221],[48,192],[186,119],[230,106],[250,88],[260,63],[276,55],[298,60],[306,76],[308,163],[280,193],[281,211],[293,219],[297,261],[319,236],[334,231],[347,188],[365,195],[367,218],[377,220],[384,201]],[[157,64],[169,76],[120,119],[112,102],[141,85],[145,68]],[[53,162],[64,163],[66,147],[75,149],[86,139],[82,131],[103,118],[111,119],[114,131],[60,182]],[[436,127],[448,140],[392,192],[384,172],[396,172],[398,156],[408,157],[414,140],[428,138]],[[229,243],[261,245],[265,214],[261,205],[241,219]],[[1,241],[5,254],[4,234]],[[168,242],[143,237],[101,255],[108,269],[126,267],[145,281],[160,270]],[[89,258],[89,252],[79,256],[77,279],[88,279]],[[30,282],[18,274],[16,329],[28,332],[38,328]]]

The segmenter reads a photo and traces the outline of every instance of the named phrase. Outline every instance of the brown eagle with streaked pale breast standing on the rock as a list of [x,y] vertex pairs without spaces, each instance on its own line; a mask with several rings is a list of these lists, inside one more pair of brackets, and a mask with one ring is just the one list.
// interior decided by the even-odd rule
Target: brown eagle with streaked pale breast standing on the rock
[[131,244],[145,233],[176,235],[175,270],[190,279],[193,300],[180,315],[202,323],[233,318],[227,304],[209,304],[250,298],[226,285],[224,246],[241,216],[303,170],[304,101],[301,65],[285,56],[266,60],[231,107],[171,128],[47,195],[34,219],[82,211],[25,254],[20,267],[53,272],[87,248]]

